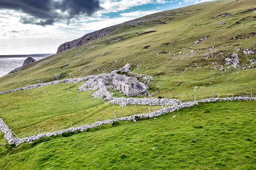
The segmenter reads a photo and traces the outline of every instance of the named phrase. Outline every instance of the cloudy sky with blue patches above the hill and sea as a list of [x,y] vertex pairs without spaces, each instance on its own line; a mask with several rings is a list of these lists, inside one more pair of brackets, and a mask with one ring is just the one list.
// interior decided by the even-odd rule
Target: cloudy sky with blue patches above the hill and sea
[[0,55],[56,53],[62,43],[148,14],[211,0],[0,0]]

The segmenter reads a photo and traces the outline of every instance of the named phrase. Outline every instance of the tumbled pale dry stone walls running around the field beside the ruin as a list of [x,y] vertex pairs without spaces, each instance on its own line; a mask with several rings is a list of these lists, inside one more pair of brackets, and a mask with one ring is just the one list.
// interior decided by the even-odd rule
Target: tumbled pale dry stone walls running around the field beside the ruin
[[[108,83],[112,81],[112,78],[114,75],[116,75],[117,72],[129,72],[130,70],[130,64],[126,64],[124,67],[122,67],[119,70],[114,70],[111,73],[108,74],[101,74],[101,75],[91,75],[91,76],[86,76],[83,78],[74,78],[74,79],[65,79],[62,81],[52,81],[49,83],[40,83],[40,84],[33,84],[30,86],[18,88],[18,89],[13,89],[13,90],[8,90],[4,92],[0,92],[1,94],[6,94],[9,92],[17,92],[20,90],[25,90],[25,89],[34,89],[34,88],[40,88],[43,86],[48,86],[52,84],[59,84],[59,83],[79,83],[80,81],[85,81],[88,80],[81,88],[79,88],[79,91],[90,91],[94,89],[99,89],[97,92],[93,93],[93,97],[99,97],[99,98],[104,98],[110,101],[111,104],[119,104],[120,106],[126,106],[127,104],[133,104],[133,105],[172,105],[170,107],[165,107],[162,109],[159,109],[154,112],[149,112],[149,113],[143,113],[143,114],[138,114],[138,115],[131,115],[131,116],[125,116],[122,118],[116,118],[116,119],[108,119],[105,121],[98,121],[94,124],[90,125],[83,125],[79,127],[73,127],[69,128],[66,130],[59,130],[56,132],[52,133],[44,133],[40,135],[33,135],[29,136],[26,138],[15,138],[14,133],[12,130],[9,129],[9,127],[5,124],[3,119],[0,118],[0,130],[4,133],[4,138],[6,141],[8,141],[9,144],[22,144],[24,142],[29,142],[32,143],[35,140],[38,140],[40,138],[44,137],[50,137],[50,136],[55,136],[55,135],[60,135],[63,133],[67,132],[75,132],[75,131],[84,131],[87,129],[91,129],[93,127],[99,127],[104,124],[111,124],[114,121],[134,121],[136,122],[138,119],[141,118],[153,118],[157,117],[169,112],[174,112],[175,110],[181,109],[181,108],[186,108],[186,107],[192,107],[195,105],[198,105],[199,103],[207,103],[207,102],[212,102],[212,101],[233,101],[233,100],[239,100],[239,101],[256,101],[255,98],[250,98],[250,97],[232,97],[232,98],[209,98],[209,99],[204,99],[201,101],[194,101],[194,102],[181,102],[177,101],[176,99],[157,99],[157,98],[141,98],[141,99],[134,99],[134,98],[114,98],[113,93],[108,92],[108,86],[106,86]],[[136,75],[136,73],[134,73]],[[143,77],[142,75],[139,75],[140,77]],[[151,80],[150,76],[144,76],[145,80]],[[175,116],[173,116],[175,118]]]

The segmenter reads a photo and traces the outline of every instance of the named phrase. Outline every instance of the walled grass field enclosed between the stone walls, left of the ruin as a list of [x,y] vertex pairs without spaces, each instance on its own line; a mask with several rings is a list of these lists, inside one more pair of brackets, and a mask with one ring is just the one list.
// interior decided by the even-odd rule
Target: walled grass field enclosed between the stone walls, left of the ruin
[[[135,106],[120,107],[106,103],[106,101],[93,99],[91,92],[77,92],[78,85],[58,84],[45,86],[40,89],[30,89],[0,95],[0,118],[20,137],[84,124],[92,124],[116,117],[146,113],[148,107],[158,110],[160,106]],[[118,95],[118,93],[116,94]],[[119,94],[120,95],[120,94]],[[7,99],[6,99],[7,98]],[[47,102],[48,101],[48,102]]]

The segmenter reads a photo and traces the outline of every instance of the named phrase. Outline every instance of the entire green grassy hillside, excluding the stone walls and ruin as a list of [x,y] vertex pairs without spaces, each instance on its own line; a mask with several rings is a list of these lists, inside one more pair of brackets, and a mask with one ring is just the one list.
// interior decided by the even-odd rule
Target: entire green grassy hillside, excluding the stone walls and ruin
[[[144,19],[3,76],[0,91],[109,73],[130,63],[133,72],[154,78],[148,85],[154,98],[192,101],[194,96],[210,98],[212,92],[220,97],[256,94],[256,54],[244,53],[256,52],[255,0],[216,0]],[[225,62],[234,52],[236,67]],[[38,127],[47,133],[70,123],[78,127],[96,118],[111,119],[114,112],[123,117],[131,110],[140,114],[161,107],[109,104],[92,98],[92,92],[78,92],[83,83],[0,95],[0,118],[26,137],[37,134]],[[255,101],[200,104],[156,119],[104,125],[18,147],[0,145],[0,169],[256,169],[255,106]],[[4,142],[0,133],[0,144]]]

